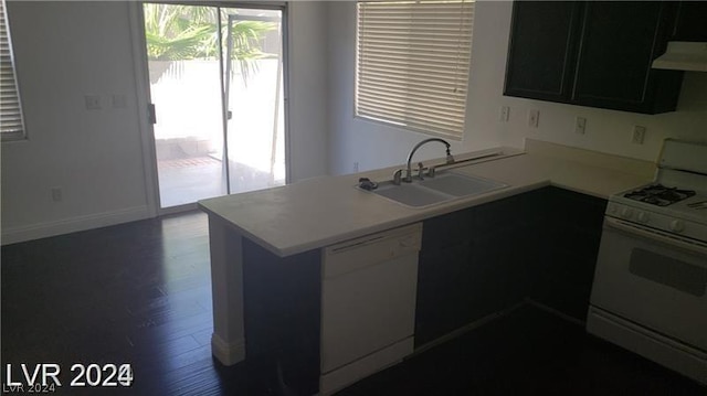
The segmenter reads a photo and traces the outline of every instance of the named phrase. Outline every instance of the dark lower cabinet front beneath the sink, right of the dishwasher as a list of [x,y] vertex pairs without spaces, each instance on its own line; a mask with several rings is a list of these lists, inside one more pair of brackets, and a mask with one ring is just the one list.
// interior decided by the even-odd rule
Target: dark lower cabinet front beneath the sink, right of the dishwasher
[[424,222],[418,272],[415,346],[424,345],[528,292],[542,190]]

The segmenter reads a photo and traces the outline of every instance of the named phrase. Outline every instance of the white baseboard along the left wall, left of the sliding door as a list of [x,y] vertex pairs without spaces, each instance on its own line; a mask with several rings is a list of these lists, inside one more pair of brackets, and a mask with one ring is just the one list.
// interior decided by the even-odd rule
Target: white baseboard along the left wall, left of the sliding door
[[3,227],[1,244],[9,245],[19,242],[46,238],[50,236],[106,227],[109,225],[135,222],[149,217],[152,217],[149,207],[144,205],[20,227]]

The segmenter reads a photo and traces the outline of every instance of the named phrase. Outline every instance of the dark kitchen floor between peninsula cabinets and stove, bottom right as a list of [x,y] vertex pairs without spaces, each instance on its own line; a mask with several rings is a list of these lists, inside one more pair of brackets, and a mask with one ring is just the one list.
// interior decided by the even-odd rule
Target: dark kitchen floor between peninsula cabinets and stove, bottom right
[[704,396],[707,389],[528,304],[337,396],[359,395]]

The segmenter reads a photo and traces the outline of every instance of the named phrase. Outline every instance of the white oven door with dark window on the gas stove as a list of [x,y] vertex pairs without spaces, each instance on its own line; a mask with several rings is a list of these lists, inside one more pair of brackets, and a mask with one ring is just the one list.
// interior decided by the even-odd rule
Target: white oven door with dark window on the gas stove
[[707,244],[605,217],[594,307],[707,351]]

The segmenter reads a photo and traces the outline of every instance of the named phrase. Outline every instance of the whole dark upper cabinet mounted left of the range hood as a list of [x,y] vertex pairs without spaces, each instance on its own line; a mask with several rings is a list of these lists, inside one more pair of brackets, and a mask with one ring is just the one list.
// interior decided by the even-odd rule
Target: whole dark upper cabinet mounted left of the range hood
[[677,3],[514,3],[504,94],[615,110],[675,110],[683,72],[652,69]]

